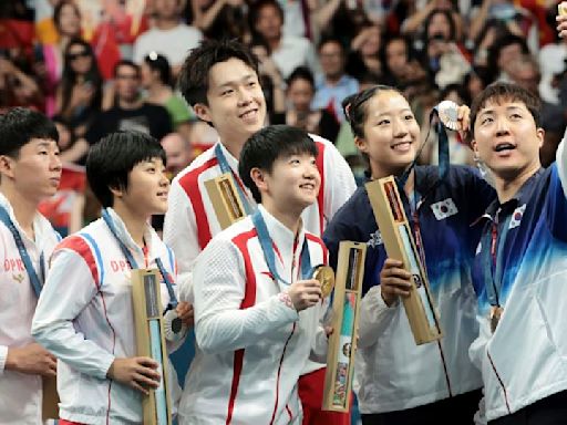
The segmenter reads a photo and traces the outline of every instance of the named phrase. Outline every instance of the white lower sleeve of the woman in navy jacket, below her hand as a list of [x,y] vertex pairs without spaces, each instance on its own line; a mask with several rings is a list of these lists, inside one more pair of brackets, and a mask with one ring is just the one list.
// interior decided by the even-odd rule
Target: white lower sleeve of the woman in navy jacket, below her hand
[[389,325],[398,309],[403,308],[400,301],[388,307],[382,299],[380,284],[369,289],[360,303],[359,343],[361,349],[367,349],[377,343],[380,334]]

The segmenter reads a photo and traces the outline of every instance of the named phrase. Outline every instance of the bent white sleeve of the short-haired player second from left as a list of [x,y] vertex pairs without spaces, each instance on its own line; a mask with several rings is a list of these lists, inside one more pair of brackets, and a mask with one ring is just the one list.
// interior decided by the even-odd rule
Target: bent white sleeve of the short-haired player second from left
[[73,326],[73,320],[96,296],[96,291],[84,259],[68,249],[56,251],[38,301],[31,333],[71,367],[104,380],[114,355],[85,340]]

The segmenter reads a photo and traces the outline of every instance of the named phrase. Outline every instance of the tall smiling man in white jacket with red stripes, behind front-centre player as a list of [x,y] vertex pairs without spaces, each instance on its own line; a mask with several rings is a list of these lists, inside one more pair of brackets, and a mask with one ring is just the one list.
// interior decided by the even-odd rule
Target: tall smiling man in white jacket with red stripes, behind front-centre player
[[[238,174],[238,157],[246,141],[264,127],[266,100],[258,81],[258,60],[241,43],[209,40],[192,50],[179,75],[179,87],[197,116],[215,127],[219,141],[198,156],[174,179],[165,216],[164,240],[175,251],[179,266],[182,298],[192,297],[195,259],[220,231],[205,182],[230,173],[247,212],[256,208]],[[328,141],[311,136],[318,149],[321,190],[317,201],[302,212],[303,226],[321,236],[327,222],[355,189],[354,177],[340,153]],[[183,293],[186,292],[186,293]],[[199,348],[197,346],[198,351]],[[324,364],[308,363],[300,381],[306,424],[348,424],[344,414],[321,412]],[[190,383],[187,382],[190,386]]]

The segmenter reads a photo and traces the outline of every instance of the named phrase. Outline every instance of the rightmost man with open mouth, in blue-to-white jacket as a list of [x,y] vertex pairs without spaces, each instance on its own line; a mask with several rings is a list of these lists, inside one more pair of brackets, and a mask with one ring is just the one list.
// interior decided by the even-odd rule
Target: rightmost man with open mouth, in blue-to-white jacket
[[473,281],[481,334],[470,354],[489,424],[567,421],[567,149],[547,169],[539,100],[509,83],[473,102],[473,148],[498,198],[482,217]]

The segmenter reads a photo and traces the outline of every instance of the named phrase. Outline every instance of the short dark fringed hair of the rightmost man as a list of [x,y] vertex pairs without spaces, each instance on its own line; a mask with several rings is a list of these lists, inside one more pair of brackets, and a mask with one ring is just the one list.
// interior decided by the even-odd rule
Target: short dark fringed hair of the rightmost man
[[539,111],[542,108],[542,101],[539,97],[534,95],[528,90],[517,85],[516,83],[506,83],[502,81],[497,81],[495,83],[489,84],[486,89],[484,89],[478,96],[473,100],[473,104],[471,105],[471,135],[474,138],[474,124],[476,123],[476,117],[483,107],[486,106],[488,102],[522,102],[526,105],[526,108],[529,111],[534,121],[536,123],[536,127],[539,127],[542,124],[542,118]]

